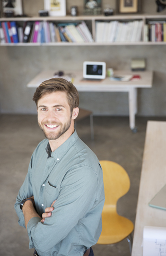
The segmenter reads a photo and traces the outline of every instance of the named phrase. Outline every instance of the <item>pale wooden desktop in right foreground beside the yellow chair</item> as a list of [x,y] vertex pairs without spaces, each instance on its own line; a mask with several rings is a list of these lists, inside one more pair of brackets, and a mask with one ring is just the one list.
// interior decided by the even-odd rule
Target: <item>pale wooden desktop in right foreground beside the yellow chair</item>
[[148,206],[166,183],[166,122],[148,121],[132,256],[143,255],[144,226],[166,227],[166,211]]

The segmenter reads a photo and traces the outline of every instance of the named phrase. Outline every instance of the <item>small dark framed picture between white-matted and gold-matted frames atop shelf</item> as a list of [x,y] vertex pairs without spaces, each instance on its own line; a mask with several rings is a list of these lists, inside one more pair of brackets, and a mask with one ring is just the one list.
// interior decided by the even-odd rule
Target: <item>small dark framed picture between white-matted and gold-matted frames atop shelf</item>
[[100,15],[101,14],[101,0],[84,0],[84,14],[85,15]]

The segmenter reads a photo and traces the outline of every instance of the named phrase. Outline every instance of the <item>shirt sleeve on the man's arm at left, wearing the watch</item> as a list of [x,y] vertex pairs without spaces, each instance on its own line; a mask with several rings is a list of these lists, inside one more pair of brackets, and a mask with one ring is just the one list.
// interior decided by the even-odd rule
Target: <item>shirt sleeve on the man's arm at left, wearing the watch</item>
[[19,194],[16,197],[16,202],[14,205],[15,211],[19,217],[19,225],[24,228],[25,228],[24,214],[20,209],[20,203],[23,201],[23,199],[33,196],[32,183],[31,183],[31,169],[32,169],[32,157],[31,157],[31,162],[29,164],[27,176],[25,177],[23,185],[19,190]]

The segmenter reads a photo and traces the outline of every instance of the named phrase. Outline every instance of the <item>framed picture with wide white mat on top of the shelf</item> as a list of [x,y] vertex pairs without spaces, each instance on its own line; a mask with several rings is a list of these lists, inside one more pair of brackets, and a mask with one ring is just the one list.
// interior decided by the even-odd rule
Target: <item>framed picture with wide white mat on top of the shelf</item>
[[44,0],[44,9],[50,16],[66,16],[66,0]]

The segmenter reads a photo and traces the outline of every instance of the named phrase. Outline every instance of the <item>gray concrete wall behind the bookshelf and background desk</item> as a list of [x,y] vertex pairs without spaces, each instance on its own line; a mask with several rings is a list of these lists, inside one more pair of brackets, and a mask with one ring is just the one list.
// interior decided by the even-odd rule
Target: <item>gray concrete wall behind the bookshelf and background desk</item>
[[[35,4],[34,4],[35,3]],[[79,4],[78,4],[79,3]],[[104,7],[116,11],[116,1],[103,0]],[[83,12],[83,1],[67,0],[67,11],[72,5]],[[43,8],[41,0],[23,0],[24,13],[38,15]],[[33,8],[32,8],[33,6]],[[143,1],[143,13],[156,13],[152,0]],[[160,13],[166,14],[166,10]],[[154,70],[152,89],[138,90],[138,115],[164,116],[166,114],[166,45],[151,46],[2,46],[0,47],[0,104],[1,113],[36,113],[32,101],[35,89],[27,83],[43,69],[81,70],[82,63],[106,61],[107,67],[130,69],[132,58],[145,58],[147,70]],[[80,107],[95,115],[128,115],[127,93],[80,93]]]

